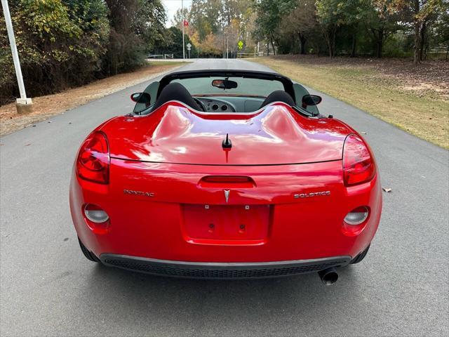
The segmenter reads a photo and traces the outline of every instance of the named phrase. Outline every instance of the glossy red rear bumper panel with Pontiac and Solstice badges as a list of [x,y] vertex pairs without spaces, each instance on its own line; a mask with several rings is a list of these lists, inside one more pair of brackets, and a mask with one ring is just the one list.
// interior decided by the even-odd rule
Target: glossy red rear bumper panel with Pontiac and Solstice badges
[[[225,173],[250,176],[257,187],[229,187],[231,194],[226,202],[223,190],[227,186],[199,186],[203,176]],[[344,187],[341,161],[224,168],[112,159],[110,176],[109,185],[100,185],[80,180],[74,174],[70,188],[76,233],[86,248],[99,257],[115,254],[225,264],[307,261],[335,256],[354,258],[373,240],[382,207],[377,176],[370,183]],[[124,189],[154,195],[125,194]],[[323,190],[330,194],[295,197],[300,192]],[[98,234],[88,227],[82,211],[88,203],[100,206],[109,215],[110,227],[106,233]],[[210,223],[206,221],[210,216],[199,213],[195,218],[192,213],[195,207],[205,210],[206,205],[208,211],[231,207],[232,210],[241,208],[242,212],[246,212],[246,205],[250,211],[269,206],[269,216],[262,211],[255,216],[223,211],[222,218],[226,221],[218,219],[215,228],[219,229],[210,236],[223,233],[219,232],[219,226],[227,230],[227,219],[229,229],[234,232],[208,239]],[[342,227],[344,216],[361,205],[369,207],[370,216],[361,232],[348,235]],[[256,216],[268,220],[257,226]],[[243,239],[237,238],[241,234],[236,227],[241,224],[240,220],[247,225],[248,235],[242,235]]]

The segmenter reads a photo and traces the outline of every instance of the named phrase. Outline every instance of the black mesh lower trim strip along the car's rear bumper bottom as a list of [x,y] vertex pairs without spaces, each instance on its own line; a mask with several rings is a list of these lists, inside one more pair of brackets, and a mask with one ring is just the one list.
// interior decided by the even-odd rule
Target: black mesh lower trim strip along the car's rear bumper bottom
[[199,279],[250,279],[319,272],[349,264],[350,256],[258,263],[206,263],[157,260],[103,253],[103,264],[152,275]]

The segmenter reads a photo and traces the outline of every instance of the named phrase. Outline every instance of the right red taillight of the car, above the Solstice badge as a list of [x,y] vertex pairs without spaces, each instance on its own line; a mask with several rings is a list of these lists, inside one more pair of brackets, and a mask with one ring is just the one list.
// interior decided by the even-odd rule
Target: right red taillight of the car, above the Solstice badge
[[356,185],[373,179],[375,164],[363,140],[356,135],[347,136],[343,148],[344,185]]

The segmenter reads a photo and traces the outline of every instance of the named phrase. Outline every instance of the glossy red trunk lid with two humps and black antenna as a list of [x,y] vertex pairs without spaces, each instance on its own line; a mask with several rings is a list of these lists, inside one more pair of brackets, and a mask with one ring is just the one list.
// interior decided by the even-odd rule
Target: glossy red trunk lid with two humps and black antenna
[[[116,117],[102,131],[111,157],[203,165],[339,160],[351,133],[340,121],[302,117],[282,103],[254,114],[215,114],[197,113],[174,102],[145,117]],[[230,149],[222,147],[227,134]]]

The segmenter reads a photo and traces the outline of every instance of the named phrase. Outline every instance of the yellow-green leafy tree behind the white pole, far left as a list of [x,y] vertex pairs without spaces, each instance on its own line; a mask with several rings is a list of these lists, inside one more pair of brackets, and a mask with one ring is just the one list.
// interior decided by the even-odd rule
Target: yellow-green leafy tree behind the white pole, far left
[[[54,93],[95,77],[109,37],[104,1],[15,0],[9,5],[30,96]],[[0,46],[2,104],[18,92],[3,14]]]

